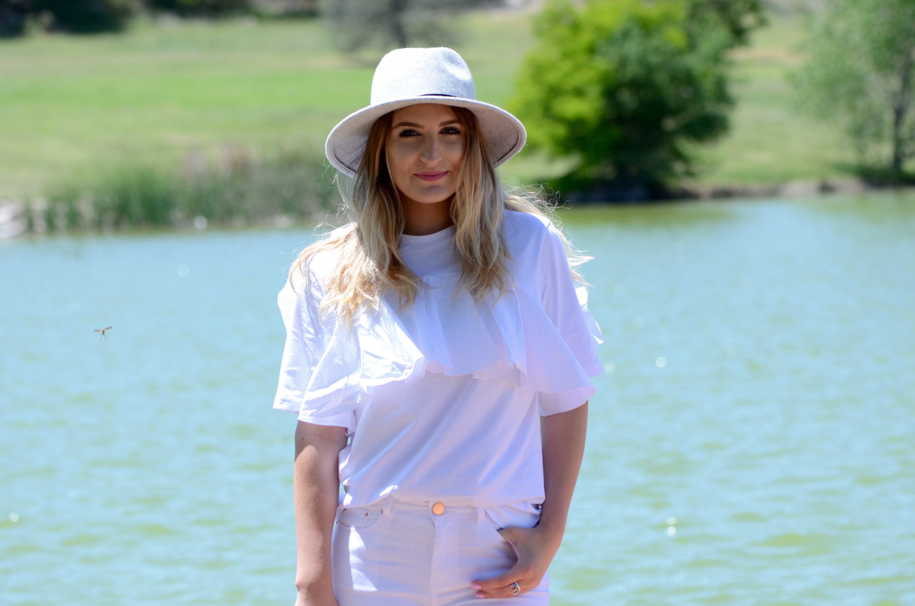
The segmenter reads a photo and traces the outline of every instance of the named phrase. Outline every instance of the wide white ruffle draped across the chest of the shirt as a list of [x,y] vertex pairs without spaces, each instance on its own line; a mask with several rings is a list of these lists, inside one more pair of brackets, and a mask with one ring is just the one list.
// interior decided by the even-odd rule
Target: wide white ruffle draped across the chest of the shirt
[[426,372],[514,373],[519,387],[551,395],[544,397],[551,403],[542,406],[545,414],[580,406],[594,392],[590,378],[603,372],[602,341],[584,287],[576,291],[580,326],[564,336],[539,297],[519,290],[478,305],[466,292],[452,298],[458,279],[425,276],[409,308],[389,295],[352,328],[337,325],[313,367],[299,418],[338,416],[360,406],[372,386],[412,384]]

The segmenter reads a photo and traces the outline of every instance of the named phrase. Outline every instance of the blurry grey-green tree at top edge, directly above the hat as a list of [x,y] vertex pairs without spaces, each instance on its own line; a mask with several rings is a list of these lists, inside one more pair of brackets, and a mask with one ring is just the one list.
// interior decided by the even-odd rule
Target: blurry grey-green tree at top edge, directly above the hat
[[442,16],[498,0],[321,0],[320,14],[328,18],[340,49],[371,45],[398,48],[411,44],[442,46],[454,42],[441,25]]

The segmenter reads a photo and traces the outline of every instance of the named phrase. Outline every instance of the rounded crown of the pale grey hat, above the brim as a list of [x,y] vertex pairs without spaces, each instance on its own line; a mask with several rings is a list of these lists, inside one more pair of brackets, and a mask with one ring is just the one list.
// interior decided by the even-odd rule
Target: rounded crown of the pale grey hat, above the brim
[[430,94],[477,99],[470,69],[454,50],[392,50],[371,79],[371,105]]

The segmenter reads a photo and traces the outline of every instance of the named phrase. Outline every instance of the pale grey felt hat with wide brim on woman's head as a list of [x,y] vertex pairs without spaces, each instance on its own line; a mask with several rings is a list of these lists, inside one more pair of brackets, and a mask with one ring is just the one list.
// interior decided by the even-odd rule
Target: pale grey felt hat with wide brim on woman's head
[[467,63],[452,49],[397,49],[385,55],[371,79],[371,101],[334,126],[325,151],[330,164],[355,176],[371,125],[382,115],[407,105],[442,103],[466,107],[477,115],[490,142],[496,166],[521,151],[527,133],[518,118],[477,101]]

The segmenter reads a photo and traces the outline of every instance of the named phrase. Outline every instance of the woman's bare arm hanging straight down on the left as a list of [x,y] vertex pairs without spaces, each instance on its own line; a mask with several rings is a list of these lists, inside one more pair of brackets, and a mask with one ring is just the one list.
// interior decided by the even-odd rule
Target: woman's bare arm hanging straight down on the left
[[337,606],[330,576],[330,536],[337,514],[339,451],[345,447],[344,427],[302,421],[296,426],[296,606]]

